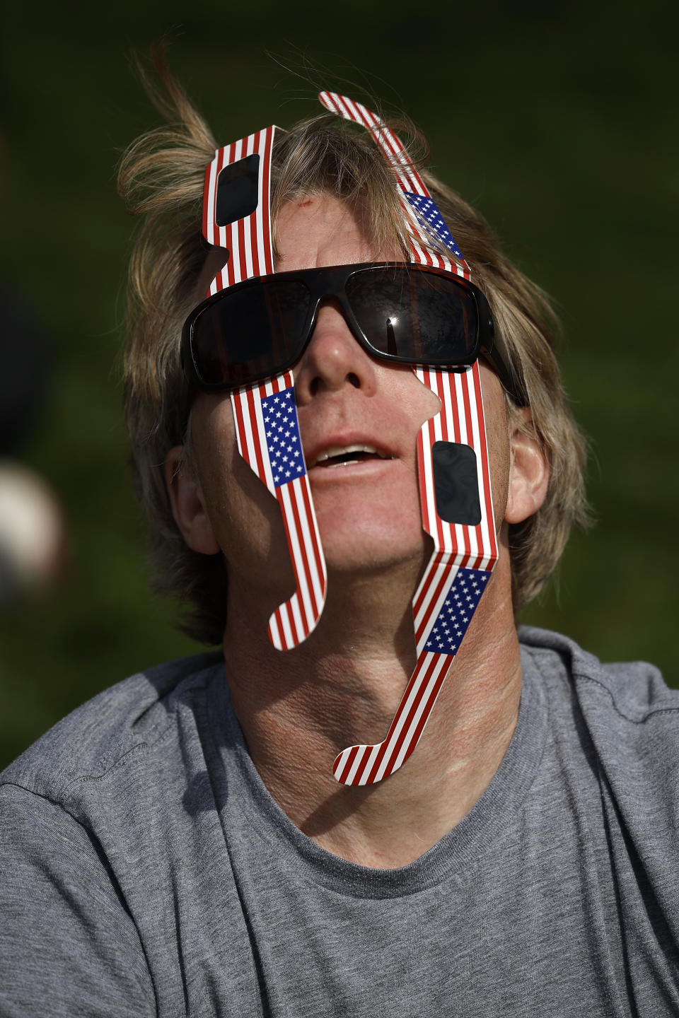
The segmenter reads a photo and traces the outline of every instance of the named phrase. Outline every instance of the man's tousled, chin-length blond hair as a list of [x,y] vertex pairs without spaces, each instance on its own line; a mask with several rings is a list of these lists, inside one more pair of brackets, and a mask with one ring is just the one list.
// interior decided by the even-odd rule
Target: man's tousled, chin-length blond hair
[[[202,236],[205,168],[216,148],[210,129],[172,78],[162,55],[164,84],[147,88],[168,123],[138,137],[125,152],[118,185],[127,208],[143,217],[129,271],[128,343],[124,361],[125,415],[135,489],[146,511],[156,566],[156,588],[190,609],[180,627],[199,640],[220,642],[226,623],[227,576],[221,555],[204,556],[184,544],[170,509],[164,462],[183,444],[180,417],[181,325],[202,297],[208,254]],[[409,133],[411,125],[399,123]],[[551,478],[542,508],[510,525],[515,610],[543,587],[556,568],[571,526],[587,522],[584,443],[564,395],[552,348],[554,315],[542,291],[500,250],[488,223],[454,190],[426,170],[421,175],[485,292],[515,378],[530,405],[521,418],[546,450]],[[322,114],[282,133],[274,146],[272,221],[291,197],[330,192],[367,210],[366,233],[376,249],[407,258],[404,223],[393,172],[362,129]],[[449,253],[449,252],[446,252]],[[515,411],[508,399],[510,415]],[[518,418],[517,418],[518,419]]]

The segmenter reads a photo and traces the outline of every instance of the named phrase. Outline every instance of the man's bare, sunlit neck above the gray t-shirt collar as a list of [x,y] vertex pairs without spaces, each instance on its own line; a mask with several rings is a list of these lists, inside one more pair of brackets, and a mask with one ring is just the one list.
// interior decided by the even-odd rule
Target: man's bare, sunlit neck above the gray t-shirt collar
[[412,756],[379,784],[338,785],[335,756],[384,738],[414,668],[403,593],[414,581],[398,580],[329,575],[318,628],[284,653],[266,638],[257,592],[232,584],[224,638],[234,709],[273,797],[328,851],[381,868],[418,858],[477,801],[509,745],[521,686],[503,547]]

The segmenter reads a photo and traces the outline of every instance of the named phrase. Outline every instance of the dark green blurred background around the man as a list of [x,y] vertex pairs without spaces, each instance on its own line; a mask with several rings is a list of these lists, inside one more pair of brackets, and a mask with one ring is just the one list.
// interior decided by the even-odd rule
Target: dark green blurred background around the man
[[53,593],[0,611],[0,766],[98,690],[196,648],[173,630],[174,606],[148,592],[120,412],[133,224],[114,166],[157,123],[128,55],[166,32],[171,66],[224,144],[315,112],[282,66],[307,60],[327,68],[324,83],[349,78],[419,124],[436,172],[554,297],[566,387],[591,439],[598,525],[572,540],[524,619],[608,660],[655,661],[679,684],[676,5],[421,11],[37,0],[4,12],[0,277],[51,340],[24,458],[62,502],[69,560]]

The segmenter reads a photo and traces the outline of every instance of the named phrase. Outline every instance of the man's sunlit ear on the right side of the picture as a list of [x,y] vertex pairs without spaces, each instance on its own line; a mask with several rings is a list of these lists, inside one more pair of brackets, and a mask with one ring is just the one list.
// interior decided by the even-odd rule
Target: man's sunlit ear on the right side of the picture
[[511,466],[505,520],[521,523],[536,513],[545,501],[550,463],[535,435],[528,407],[514,411],[510,428]]

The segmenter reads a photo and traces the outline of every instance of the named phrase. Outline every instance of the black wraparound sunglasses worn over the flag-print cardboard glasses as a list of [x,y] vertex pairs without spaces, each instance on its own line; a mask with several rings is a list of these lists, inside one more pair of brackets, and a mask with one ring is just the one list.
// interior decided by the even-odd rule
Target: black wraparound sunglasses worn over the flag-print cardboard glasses
[[286,371],[301,356],[327,297],[339,302],[374,357],[464,369],[484,354],[514,400],[525,402],[480,290],[443,269],[403,262],[279,272],[208,297],[184,323],[186,381],[221,392]]

